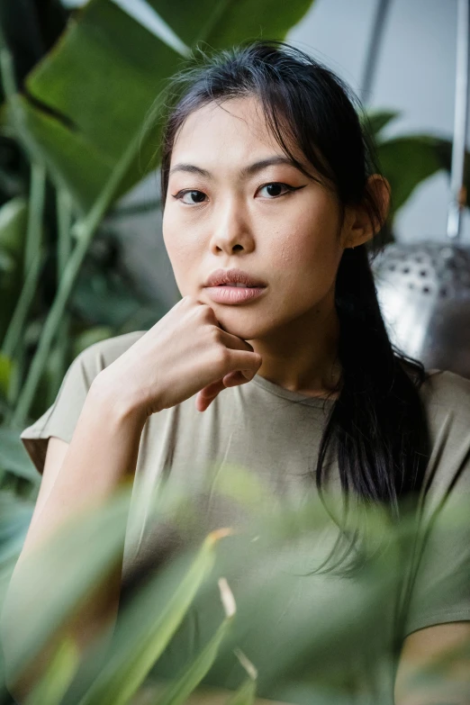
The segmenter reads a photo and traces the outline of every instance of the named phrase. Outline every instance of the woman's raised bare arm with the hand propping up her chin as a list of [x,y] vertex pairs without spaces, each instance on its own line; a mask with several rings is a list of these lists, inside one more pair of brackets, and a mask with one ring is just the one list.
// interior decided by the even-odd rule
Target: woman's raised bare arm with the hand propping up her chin
[[[196,393],[197,408],[204,411],[225,385],[247,384],[260,365],[261,357],[249,343],[221,330],[209,306],[185,296],[130,348],[101,367],[83,401],[80,394],[81,413],[67,451],[57,442],[48,449],[47,476],[43,477],[41,497],[8,589],[11,604],[3,614],[7,667],[9,649],[14,654],[15,624],[22,619],[21,605],[14,604],[15,585],[27,579],[28,558],[34,547],[62,522],[99,506],[123,480],[127,484],[135,473],[142,429],[153,413]],[[90,372],[84,372],[86,379],[90,378]],[[74,375],[78,373],[83,375],[76,365]],[[74,384],[68,394],[74,402]],[[67,410],[64,400],[62,410]],[[76,638],[80,648],[94,640],[98,625],[113,627],[121,574],[122,562],[67,625],[67,633]],[[41,610],[41,605],[37,608]],[[41,655],[41,662],[47,662],[47,655]],[[21,698],[39,675],[40,664],[34,664],[34,673],[22,674],[21,683],[10,679],[9,687]]]

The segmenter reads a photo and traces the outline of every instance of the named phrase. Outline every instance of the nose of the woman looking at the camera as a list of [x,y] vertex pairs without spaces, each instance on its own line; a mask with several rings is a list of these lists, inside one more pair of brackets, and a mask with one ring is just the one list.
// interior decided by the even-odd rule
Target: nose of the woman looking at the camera
[[255,240],[246,212],[240,199],[233,197],[221,203],[217,212],[213,212],[211,250],[213,254],[224,252],[251,252]]

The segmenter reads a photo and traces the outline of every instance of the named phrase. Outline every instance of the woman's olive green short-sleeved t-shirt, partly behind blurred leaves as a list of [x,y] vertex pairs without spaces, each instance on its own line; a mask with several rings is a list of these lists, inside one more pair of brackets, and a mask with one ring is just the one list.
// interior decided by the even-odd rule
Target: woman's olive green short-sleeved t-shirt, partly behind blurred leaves
[[[70,442],[95,376],[141,335],[143,331],[96,343],[83,351],[69,367],[54,404],[32,426],[24,429],[21,436],[39,472],[51,436]],[[420,628],[470,620],[470,529],[460,529],[449,538],[439,532],[438,521],[439,514],[451,505],[453,499],[465,500],[466,497],[470,500],[470,381],[447,371],[432,370],[430,373],[420,391],[432,448],[422,491],[422,520],[428,522],[429,536],[420,548],[416,570],[412,572],[409,600],[401,621],[401,639]],[[122,379],[122,385],[125,385],[125,379]],[[299,502],[298,506],[302,506],[304,494],[311,492],[315,485],[321,434],[333,403],[288,391],[256,375],[248,384],[224,390],[203,413],[196,410],[195,398],[191,397],[171,409],[153,414],[140,438],[132,494],[132,500],[134,496],[136,502],[139,499],[139,511],[132,514],[131,502],[128,525],[128,530],[135,532],[132,536],[137,538],[124,553],[123,581],[140,564],[148,565],[151,543],[146,543],[145,538],[145,500],[153,496],[162,478],[183,485],[189,493],[197,493],[203,478],[207,477],[208,467],[212,476],[217,476],[224,467],[230,470],[230,466],[237,465],[256,475],[277,497]],[[339,487],[335,457],[327,456],[326,460],[330,465],[330,486]],[[306,550],[308,554],[308,547]],[[301,628],[304,630],[306,619],[308,623],[312,620],[312,635],[315,635],[325,620],[328,624],[329,614],[338,616],[343,607],[355,605],[355,619],[344,625],[349,630],[348,653],[343,647],[346,643],[344,632],[343,636],[339,631],[334,637],[325,637],[321,651],[312,653],[312,673],[324,683],[325,702],[330,701],[329,683],[334,683],[339,685],[335,703],[380,701],[392,705],[393,671],[383,655],[388,653],[387,649],[392,648],[393,639],[396,639],[393,626],[396,601],[391,597],[387,605],[377,606],[371,596],[358,601],[357,584],[348,579],[299,576],[299,571],[308,571],[307,554],[300,551],[296,555],[293,550],[286,549],[283,556],[275,556],[265,566],[262,577],[248,574],[247,568],[245,577],[247,583],[251,580],[250,594],[253,589],[265,591],[274,612],[265,615],[258,610],[253,613],[249,631],[246,627],[243,633],[234,630],[233,646],[242,647],[243,653],[261,673],[263,667],[269,672],[272,664],[276,664],[276,650],[284,655],[286,650],[292,650],[295,654],[297,635]],[[242,604],[243,585],[237,583],[235,577],[233,579],[238,590],[235,597]],[[278,593],[271,592],[273,585],[279,586]],[[364,591],[366,595],[366,587]],[[380,612],[382,608],[384,611]],[[216,617],[214,613],[210,601],[202,601],[198,608],[191,610],[185,628],[177,633],[173,650],[177,664],[172,662],[169,650],[167,661],[160,666],[164,672],[167,669],[165,673],[170,673],[173,666],[177,671],[200,650],[221,617],[221,613]],[[344,615],[348,621],[350,610]],[[355,653],[355,649],[350,648],[350,640],[354,643],[357,628],[358,640],[364,633],[368,635],[365,659],[371,660],[363,666],[373,682],[371,688],[378,689],[374,693],[365,690],[365,686],[355,682],[354,675],[351,675],[362,659],[358,651]],[[231,660],[227,654],[221,657],[206,682],[237,687],[244,672],[238,662],[238,665],[234,663],[236,661],[233,655]],[[350,669],[347,661],[352,664]],[[290,697],[290,701],[299,703],[307,701],[302,692],[289,691],[288,684],[282,691],[271,691],[268,685],[263,691],[262,679],[260,685],[261,696],[277,700],[289,700]],[[318,702],[323,701],[320,692]]]

